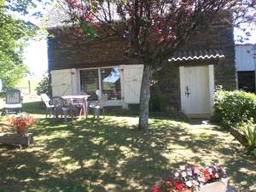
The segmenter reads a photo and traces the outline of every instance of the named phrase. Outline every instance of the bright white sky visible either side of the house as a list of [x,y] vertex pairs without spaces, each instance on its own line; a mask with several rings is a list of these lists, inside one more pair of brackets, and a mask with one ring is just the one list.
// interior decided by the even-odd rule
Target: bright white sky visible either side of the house
[[[255,26],[256,27],[256,26]],[[235,29],[235,38],[241,34],[238,29]],[[251,32],[251,38],[244,44],[256,44],[256,30]],[[24,63],[29,68],[30,72],[38,78],[42,78],[48,69],[47,58],[47,41],[46,39],[40,41],[30,41],[25,49]]]

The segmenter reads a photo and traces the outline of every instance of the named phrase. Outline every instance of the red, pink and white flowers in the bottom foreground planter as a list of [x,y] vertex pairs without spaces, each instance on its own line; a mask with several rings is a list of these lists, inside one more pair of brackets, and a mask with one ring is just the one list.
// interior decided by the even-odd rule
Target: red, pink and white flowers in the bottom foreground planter
[[[179,170],[172,172],[171,177],[161,179],[153,188],[153,192],[183,192],[203,191],[207,183],[223,182],[226,188],[226,172],[216,165],[212,166],[181,166]],[[211,187],[210,187],[211,188]],[[206,190],[209,191],[209,190]],[[216,191],[216,190],[215,190]],[[219,191],[221,192],[221,190]]]

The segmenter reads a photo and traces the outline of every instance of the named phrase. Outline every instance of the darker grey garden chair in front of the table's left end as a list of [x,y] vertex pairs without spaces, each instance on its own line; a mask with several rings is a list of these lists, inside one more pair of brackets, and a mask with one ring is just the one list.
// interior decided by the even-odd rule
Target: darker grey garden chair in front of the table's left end
[[55,107],[54,119],[57,119],[58,113],[61,113],[61,118],[62,115],[64,115],[64,123],[67,123],[67,112],[69,111],[70,106],[65,105],[65,100],[61,96],[53,96],[49,100],[49,104]]

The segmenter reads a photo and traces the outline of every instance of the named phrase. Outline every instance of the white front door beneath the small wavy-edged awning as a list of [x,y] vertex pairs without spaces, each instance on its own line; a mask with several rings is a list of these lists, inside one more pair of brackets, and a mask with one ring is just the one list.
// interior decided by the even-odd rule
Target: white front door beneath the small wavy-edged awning
[[180,67],[182,110],[189,117],[211,114],[209,67]]

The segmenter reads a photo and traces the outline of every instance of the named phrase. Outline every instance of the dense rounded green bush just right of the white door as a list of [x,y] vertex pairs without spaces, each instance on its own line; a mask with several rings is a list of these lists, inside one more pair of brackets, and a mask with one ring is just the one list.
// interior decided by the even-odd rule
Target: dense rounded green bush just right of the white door
[[214,94],[212,120],[225,124],[241,124],[253,119],[256,123],[256,95],[242,90],[217,90]]

